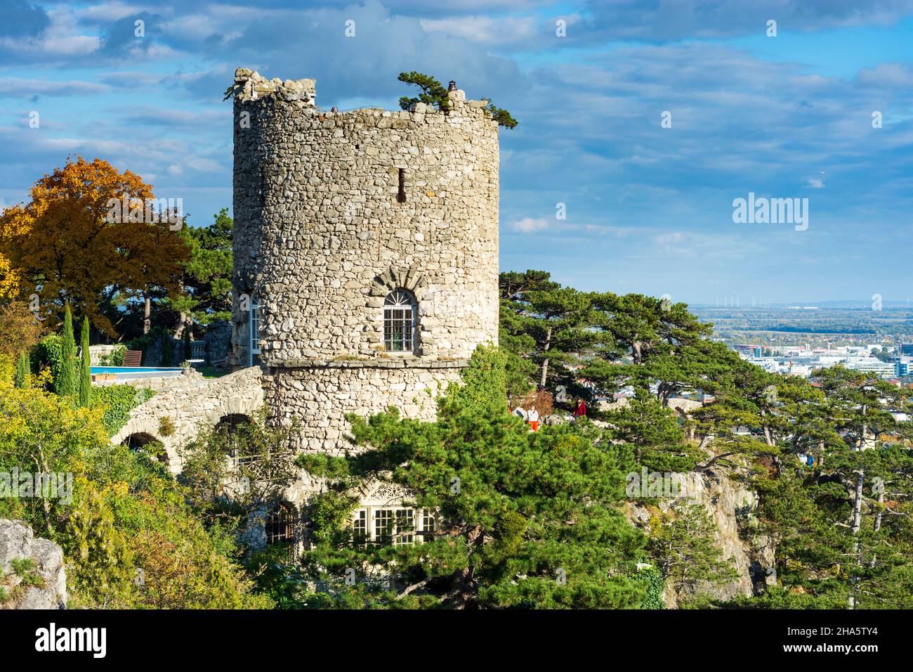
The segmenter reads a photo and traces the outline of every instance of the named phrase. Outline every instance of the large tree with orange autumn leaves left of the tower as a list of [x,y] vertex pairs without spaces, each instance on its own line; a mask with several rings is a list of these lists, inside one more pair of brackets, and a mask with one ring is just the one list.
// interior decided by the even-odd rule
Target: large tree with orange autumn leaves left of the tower
[[[188,256],[168,219],[149,217],[152,187],[129,170],[81,156],[45,175],[31,200],[0,214],[0,300],[37,294],[42,315],[77,315],[109,336],[106,311],[142,301],[153,288],[178,293]],[[112,203],[145,216],[112,217]]]

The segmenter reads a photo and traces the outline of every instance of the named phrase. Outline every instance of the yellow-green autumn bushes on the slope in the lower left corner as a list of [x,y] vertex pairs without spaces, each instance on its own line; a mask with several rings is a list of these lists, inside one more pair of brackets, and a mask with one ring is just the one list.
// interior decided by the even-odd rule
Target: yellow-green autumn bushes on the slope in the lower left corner
[[[262,608],[232,539],[204,528],[160,464],[112,445],[99,410],[11,385],[0,362],[0,471],[59,474],[68,487],[0,498],[64,550],[70,607]],[[68,476],[66,476],[68,475]]]

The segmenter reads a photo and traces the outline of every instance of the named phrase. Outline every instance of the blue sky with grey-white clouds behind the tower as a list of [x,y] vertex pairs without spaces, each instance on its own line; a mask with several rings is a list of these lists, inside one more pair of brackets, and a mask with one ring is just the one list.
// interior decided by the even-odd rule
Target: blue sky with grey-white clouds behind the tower
[[[0,207],[79,154],[183,198],[205,225],[231,206],[222,94],[236,67],[316,78],[327,109],[394,109],[397,74],[415,69],[520,122],[501,131],[502,270],[690,304],[913,294],[913,2],[0,0],[0,12]],[[734,223],[749,192],[808,198],[808,228]]]

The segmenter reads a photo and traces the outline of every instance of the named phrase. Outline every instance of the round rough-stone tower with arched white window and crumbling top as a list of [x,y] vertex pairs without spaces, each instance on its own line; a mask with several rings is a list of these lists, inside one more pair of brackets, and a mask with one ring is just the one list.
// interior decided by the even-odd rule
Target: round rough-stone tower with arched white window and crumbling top
[[497,343],[498,124],[463,91],[448,112],[314,97],[236,71],[233,357],[248,365],[253,319],[268,408],[297,447],[338,453],[346,413],[433,419]]

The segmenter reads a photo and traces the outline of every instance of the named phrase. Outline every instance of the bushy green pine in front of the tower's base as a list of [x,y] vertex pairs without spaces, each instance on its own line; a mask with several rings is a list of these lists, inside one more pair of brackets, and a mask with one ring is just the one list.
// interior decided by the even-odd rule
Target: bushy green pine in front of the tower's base
[[[449,390],[436,422],[395,410],[352,417],[348,457],[303,455],[299,464],[328,477],[315,507],[316,541],[304,560],[331,586],[312,605],[467,607],[634,607],[645,598],[635,576],[645,539],[620,512],[630,453],[597,447],[592,427],[529,432],[507,413],[503,363],[481,348],[465,387]],[[494,392],[488,396],[486,391]],[[356,486],[381,482],[414,493],[435,511],[436,529],[403,522],[382,543],[353,538]],[[424,543],[397,545],[421,534]],[[358,580],[346,586],[354,569]],[[380,574],[394,572],[392,583]],[[316,602],[314,602],[316,600]]]

